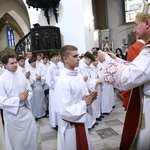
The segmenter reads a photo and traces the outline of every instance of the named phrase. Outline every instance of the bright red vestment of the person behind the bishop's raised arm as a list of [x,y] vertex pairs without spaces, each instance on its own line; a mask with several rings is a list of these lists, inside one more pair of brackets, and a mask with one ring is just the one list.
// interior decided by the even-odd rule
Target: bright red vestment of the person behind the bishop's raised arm
[[[143,46],[144,44],[141,43],[140,41],[137,41],[133,45],[131,45],[128,49],[127,60],[129,62],[133,61],[139,55]],[[122,97],[123,97],[122,106],[125,108],[125,110],[127,110],[128,107],[130,94],[131,94],[131,90],[122,91]]]

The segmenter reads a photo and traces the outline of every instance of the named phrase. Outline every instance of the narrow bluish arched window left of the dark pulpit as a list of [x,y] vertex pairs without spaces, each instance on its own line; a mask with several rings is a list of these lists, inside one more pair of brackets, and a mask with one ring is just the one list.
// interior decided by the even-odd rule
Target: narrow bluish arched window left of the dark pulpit
[[8,47],[14,47],[15,46],[14,31],[9,26],[7,27],[7,39],[8,39]]

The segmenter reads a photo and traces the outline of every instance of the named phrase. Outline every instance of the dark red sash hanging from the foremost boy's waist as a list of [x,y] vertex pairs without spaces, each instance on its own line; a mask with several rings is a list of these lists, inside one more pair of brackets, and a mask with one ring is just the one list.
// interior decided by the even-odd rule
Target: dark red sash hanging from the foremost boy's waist
[[88,150],[85,126],[83,123],[75,123],[77,150]]

